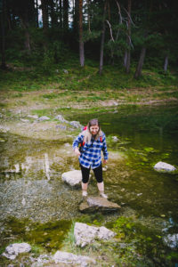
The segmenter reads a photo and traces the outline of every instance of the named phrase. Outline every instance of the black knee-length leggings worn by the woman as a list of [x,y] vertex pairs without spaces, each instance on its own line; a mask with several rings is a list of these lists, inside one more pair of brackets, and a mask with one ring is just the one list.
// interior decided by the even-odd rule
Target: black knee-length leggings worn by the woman
[[[81,171],[82,171],[82,182],[86,183],[89,180],[89,175],[90,175],[90,168],[85,168],[84,166],[81,166]],[[102,165],[93,169],[94,176],[97,180],[97,182],[103,182],[102,179]]]

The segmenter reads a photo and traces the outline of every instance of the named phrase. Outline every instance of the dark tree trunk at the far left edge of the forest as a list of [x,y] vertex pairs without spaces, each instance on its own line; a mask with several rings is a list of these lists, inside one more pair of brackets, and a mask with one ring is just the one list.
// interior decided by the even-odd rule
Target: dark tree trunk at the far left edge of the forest
[[6,69],[6,63],[5,63],[5,25],[4,25],[4,19],[5,19],[5,0],[3,0],[2,3],[2,11],[1,12],[1,31],[2,31],[2,62],[1,62],[1,68]]

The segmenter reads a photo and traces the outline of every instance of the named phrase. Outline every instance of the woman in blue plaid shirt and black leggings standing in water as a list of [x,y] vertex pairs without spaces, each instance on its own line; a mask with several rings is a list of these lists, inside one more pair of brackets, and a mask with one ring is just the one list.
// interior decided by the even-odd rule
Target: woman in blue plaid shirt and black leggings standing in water
[[[79,147],[79,149],[78,149]],[[101,150],[103,152],[103,163],[107,163],[108,151],[106,136],[101,131],[98,119],[93,118],[87,124],[86,129],[78,134],[73,142],[73,149],[77,155],[82,171],[82,196],[87,196],[90,169],[93,169],[97,180],[97,186],[102,198],[108,198],[104,194],[104,182],[102,179]]]

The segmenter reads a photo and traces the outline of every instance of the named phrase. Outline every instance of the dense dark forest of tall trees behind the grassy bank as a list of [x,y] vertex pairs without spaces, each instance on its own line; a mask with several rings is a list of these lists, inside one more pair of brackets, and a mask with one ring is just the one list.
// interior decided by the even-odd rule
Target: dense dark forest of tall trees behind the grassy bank
[[143,64],[167,72],[178,63],[177,1],[1,0],[2,69],[9,62],[59,64],[71,53],[120,65],[134,77]]

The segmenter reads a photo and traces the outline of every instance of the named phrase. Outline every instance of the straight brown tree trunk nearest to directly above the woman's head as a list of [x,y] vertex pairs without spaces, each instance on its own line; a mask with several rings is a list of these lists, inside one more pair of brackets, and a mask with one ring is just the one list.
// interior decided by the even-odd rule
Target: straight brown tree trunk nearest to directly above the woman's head
[[85,55],[84,55],[84,41],[83,41],[83,0],[79,0],[79,54],[80,54],[80,66],[84,67]]

